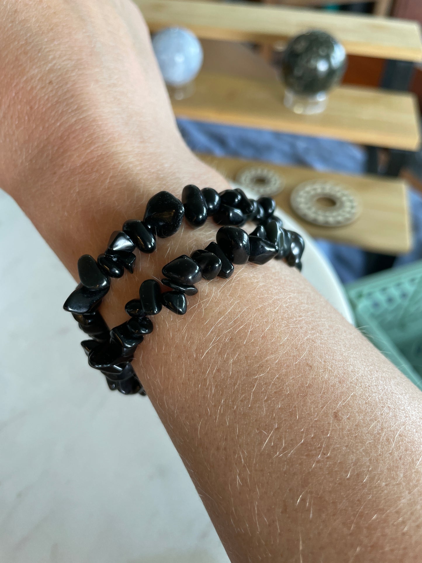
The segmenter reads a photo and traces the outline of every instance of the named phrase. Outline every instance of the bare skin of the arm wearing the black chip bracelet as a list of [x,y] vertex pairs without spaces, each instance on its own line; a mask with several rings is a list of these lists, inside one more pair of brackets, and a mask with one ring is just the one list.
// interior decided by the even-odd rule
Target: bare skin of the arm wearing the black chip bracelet
[[[0,28],[0,185],[73,275],[159,190],[227,189],[183,143],[130,2],[6,0]],[[109,326],[217,228],[136,250],[141,269],[111,280]],[[419,562],[420,392],[280,262],[197,287],[133,365],[231,561]]]

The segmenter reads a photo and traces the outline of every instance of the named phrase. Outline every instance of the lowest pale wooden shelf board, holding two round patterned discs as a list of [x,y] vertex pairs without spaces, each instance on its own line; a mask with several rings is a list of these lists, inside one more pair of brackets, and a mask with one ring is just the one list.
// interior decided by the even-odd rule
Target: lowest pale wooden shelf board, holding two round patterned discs
[[[289,213],[315,238],[352,244],[365,250],[384,254],[401,254],[411,249],[406,182],[400,178],[380,176],[350,176],[331,172],[317,172],[311,168],[276,166],[257,160],[221,158],[200,154],[199,158],[216,168],[228,180],[235,180],[245,167],[264,166],[280,174],[285,180],[284,190],[275,196],[277,205]],[[303,221],[290,207],[291,190],[308,180],[330,180],[351,188],[358,195],[361,214],[344,227],[320,227]]]

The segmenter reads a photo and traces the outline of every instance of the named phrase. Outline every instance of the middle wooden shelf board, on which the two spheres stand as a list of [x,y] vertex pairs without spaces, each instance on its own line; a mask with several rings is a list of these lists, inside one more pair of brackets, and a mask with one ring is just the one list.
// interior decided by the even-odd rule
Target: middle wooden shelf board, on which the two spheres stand
[[419,108],[410,93],[342,86],[330,94],[326,110],[297,115],[283,104],[275,79],[255,79],[201,72],[196,92],[173,101],[178,117],[334,137],[387,148],[416,150],[420,144]]

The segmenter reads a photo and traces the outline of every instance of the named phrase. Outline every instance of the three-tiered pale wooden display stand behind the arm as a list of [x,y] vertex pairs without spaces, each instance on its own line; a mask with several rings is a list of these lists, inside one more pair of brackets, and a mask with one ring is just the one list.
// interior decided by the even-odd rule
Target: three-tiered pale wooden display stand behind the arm
[[[201,155],[201,158],[231,180],[247,166],[264,164],[279,172],[286,180],[286,187],[277,196],[277,203],[295,218],[289,198],[295,186],[316,179],[339,182],[358,194],[362,204],[360,217],[351,225],[336,228],[298,220],[311,235],[354,245],[369,254],[393,257],[410,251],[407,184],[402,178],[383,174],[396,176],[403,155],[418,150],[421,143],[416,96],[401,91],[408,86],[413,63],[422,59],[420,24],[350,12],[271,6],[270,3],[280,2],[264,1],[267,5],[196,0],[137,1],[151,32],[165,26],[183,26],[197,34],[203,45],[204,65],[195,79],[195,92],[186,99],[173,100],[174,113],[178,118],[196,122],[334,138],[367,147],[367,166],[371,171],[376,170],[377,175],[317,172],[310,168],[230,158],[229,155],[228,158]],[[297,0],[299,3],[315,4],[313,0]],[[317,4],[327,2],[318,0]],[[381,5],[385,11],[387,2],[379,2],[378,7]],[[374,87],[365,83],[366,78],[362,83],[343,83],[330,92],[323,113],[295,114],[284,105],[284,87],[277,70],[281,52],[291,37],[316,28],[326,30],[343,43],[353,61],[351,70],[358,78],[362,61],[375,61]],[[272,65],[270,58],[264,60],[262,45],[270,50],[275,48]],[[372,75],[372,66],[365,67],[365,71]],[[380,83],[384,88],[378,87]],[[230,136],[230,127],[226,134]],[[338,150],[342,150],[340,145]],[[372,166],[374,155],[376,166]]]

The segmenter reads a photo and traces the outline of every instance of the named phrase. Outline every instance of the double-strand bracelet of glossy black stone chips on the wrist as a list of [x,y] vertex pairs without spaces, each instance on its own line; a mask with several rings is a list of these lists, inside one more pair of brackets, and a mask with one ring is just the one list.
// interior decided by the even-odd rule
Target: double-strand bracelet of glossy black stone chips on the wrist
[[[264,264],[271,258],[302,269],[303,238],[284,229],[281,219],[274,215],[275,208],[272,198],[255,201],[238,188],[218,194],[210,187],[200,190],[188,185],[183,188],[182,202],[168,191],[160,191],[147,203],[143,221],[126,221],[121,231],[114,231],[105,253],[97,260],[89,254],[79,258],[80,283],[63,307],[91,338],[81,342],[88,363],[104,374],[111,390],[124,395],[146,395],[131,362],[143,337],[153,330],[150,316],[157,315],[163,305],[184,315],[186,296],[197,293],[195,284],[201,279],[230,278],[234,264]],[[134,249],[154,252],[156,238],[176,233],[183,216],[192,227],[203,225],[212,216],[218,225],[223,225],[217,231],[216,242],[195,251],[191,257],[183,254],[163,267],[161,282],[169,291],[162,293],[154,279],[142,282],[139,299],[125,305],[130,319],[109,330],[98,307],[110,289],[110,278],[120,278],[125,269],[133,273]],[[246,221],[257,225],[250,235],[240,228]]]

